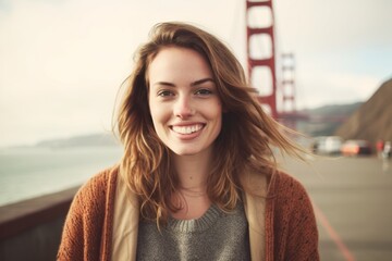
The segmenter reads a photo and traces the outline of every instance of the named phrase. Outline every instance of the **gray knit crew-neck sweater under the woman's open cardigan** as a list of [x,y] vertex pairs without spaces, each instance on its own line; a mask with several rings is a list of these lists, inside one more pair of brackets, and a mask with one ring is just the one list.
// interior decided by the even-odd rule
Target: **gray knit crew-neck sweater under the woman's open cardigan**
[[161,233],[156,223],[139,222],[138,261],[245,261],[250,260],[249,256],[248,224],[242,204],[230,213],[211,206],[197,220],[170,219]]

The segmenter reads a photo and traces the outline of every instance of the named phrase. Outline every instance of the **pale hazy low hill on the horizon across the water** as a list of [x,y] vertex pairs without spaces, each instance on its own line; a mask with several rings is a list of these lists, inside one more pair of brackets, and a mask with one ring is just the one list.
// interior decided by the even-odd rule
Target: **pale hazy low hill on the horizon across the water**
[[81,135],[63,139],[49,139],[36,144],[36,147],[64,148],[64,147],[98,147],[119,146],[120,142],[111,134]]

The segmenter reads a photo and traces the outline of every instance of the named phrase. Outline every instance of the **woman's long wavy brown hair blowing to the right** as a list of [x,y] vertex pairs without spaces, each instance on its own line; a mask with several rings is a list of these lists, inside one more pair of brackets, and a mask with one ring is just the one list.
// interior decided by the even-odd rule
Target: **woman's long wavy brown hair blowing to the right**
[[148,105],[148,66],[166,47],[189,48],[209,63],[224,109],[222,128],[215,141],[213,169],[208,175],[207,192],[212,203],[231,210],[244,188],[240,175],[255,171],[272,175],[277,170],[272,148],[299,156],[302,149],[283,134],[282,127],[267,115],[256,100],[255,89],[230,49],[217,37],[184,23],[161,23],[135,55],[135,66],[124,82],[119,108],[118,130],[124,145],[121,175],[131,191],[138,195],[143,217],[164,223],[176,211],[171,196],[179,181],[171,152],[158,138]]

